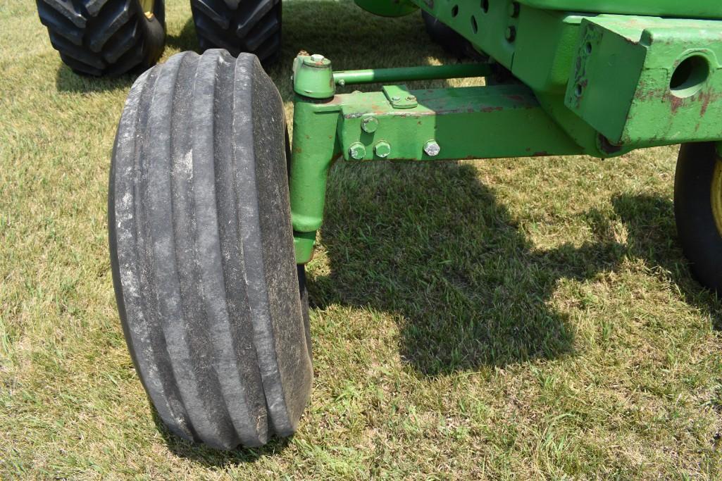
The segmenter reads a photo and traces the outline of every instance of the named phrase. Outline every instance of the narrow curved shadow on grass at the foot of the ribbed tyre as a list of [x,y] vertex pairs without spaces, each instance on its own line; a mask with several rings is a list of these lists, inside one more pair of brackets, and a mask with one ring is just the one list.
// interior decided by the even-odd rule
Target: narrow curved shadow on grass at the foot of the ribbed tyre
[[175,436],[163,424],[155,407],[149,402],[152,410],[153,423],[165,441],[168,449],[176,456],[191,459],[193,462],[203,465],[204,467],[231,467],[238,464],[256,462],[257,459],[264,456],[274,456],[281,453],[290,444],[291,438],[271,438],[266,446],[260,448],[239,448],[232,451],[220,451],[210,448],[201,443],[191,443],[185,439]]

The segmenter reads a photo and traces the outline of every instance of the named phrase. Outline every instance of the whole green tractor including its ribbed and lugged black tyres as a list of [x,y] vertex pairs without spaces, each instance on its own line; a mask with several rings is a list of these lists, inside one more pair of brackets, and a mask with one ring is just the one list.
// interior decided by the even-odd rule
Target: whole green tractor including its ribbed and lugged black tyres
[[[313,381],[304,266],[333,162],[414,168],[682,144],[679,241],[700,282],[722,291],[718,0],[356,1],[386,16],[421,9],[435,40],[475,62],[334,71],[329,58],[300,53],[289,139],[281,97],[259,62],[277,49],[279,2],[193,0],[201,46],[222,49],[179,53],[129,92],[110,171],[113,280],[139,377],[183,438],[232,449],[297,428]],[[76,4],[84,6],[73,17]],[[90,28],[116,18],[100,10],[119,5],[131,5],[123,18],[134,20],[116,37]],[[38,6],[74,69],[115,73],[132,63],[118,63],[124,55],[137,65],[157,58],[149,52],[153,22],[162,26],[159,0]],[[242,7],[266,20],[246,28]],[[58,33],[64,28],[69,35]],[[135,46],[118,56],[113,38]],[[488,82],[404,84],[459,77]],[[336,91],[363,83],[383,87]]]

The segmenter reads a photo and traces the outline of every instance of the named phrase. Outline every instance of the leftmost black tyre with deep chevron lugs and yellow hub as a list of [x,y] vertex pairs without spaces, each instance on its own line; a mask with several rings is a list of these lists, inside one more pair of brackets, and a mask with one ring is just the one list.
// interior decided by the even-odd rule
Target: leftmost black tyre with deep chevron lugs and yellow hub
[[121,75],[155,64],[165,43],[164,0],[37,0],[40,22],[73,71]]

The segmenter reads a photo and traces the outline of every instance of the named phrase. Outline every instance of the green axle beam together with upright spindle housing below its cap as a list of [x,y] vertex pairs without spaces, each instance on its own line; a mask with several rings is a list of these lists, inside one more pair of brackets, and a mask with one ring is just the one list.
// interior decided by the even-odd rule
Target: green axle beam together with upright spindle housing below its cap
[[[417,101],[413,108],[394,107],[383,92],[326,100],[297,95],[290,168],[297,263],[305,264],[313,253],[326,178],[339,155],[347,161],[430,161],[583,152],[521,84],[408,93]],[[375,123],[375,129],[364,129],[365,123]]]

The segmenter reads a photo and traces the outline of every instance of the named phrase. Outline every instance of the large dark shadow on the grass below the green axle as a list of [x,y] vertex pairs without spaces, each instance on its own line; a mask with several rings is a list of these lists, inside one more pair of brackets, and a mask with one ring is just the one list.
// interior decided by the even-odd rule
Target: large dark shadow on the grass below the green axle
[[719,319],[677,248],[666,199],[614,199],[626,245],[590,212],[595,241],[539,250],[470,165],[339,165],[333,176],[321,233],[331,274],[310,282],[312,303],[396,314],[401,355],[422,376],[570,353],[573,328],[552,306],[557,283],[630,256],[670,272],[685,300]]

